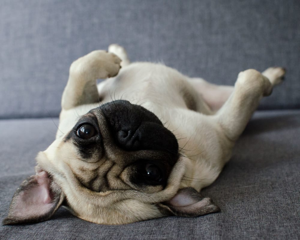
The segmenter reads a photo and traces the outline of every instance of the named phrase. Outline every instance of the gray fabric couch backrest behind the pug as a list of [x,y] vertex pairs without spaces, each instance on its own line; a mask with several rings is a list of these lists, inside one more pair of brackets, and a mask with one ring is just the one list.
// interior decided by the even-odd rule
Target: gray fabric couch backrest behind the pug
[[71,62],[111,43],[228,85],[247,68],[286,67],[262,108],[299,107],[299,12],[298,0],[2,0],[0,118],[58,116]]

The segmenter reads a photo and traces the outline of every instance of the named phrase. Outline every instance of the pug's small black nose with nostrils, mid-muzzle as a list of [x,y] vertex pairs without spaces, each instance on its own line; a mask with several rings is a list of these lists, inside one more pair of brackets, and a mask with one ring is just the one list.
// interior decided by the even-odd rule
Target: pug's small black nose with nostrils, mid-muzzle
[[140,132],[134,130],[119,130],[117,133],[117,141],[121,147],[125,149],[138,149],[140,148]]

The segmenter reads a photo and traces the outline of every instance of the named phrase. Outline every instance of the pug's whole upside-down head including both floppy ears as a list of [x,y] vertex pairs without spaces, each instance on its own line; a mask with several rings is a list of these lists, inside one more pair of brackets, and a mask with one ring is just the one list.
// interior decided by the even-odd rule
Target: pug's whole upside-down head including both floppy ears
[[193,188],[176,137],[151,112],[128,101],[91,110],[37,156],[36,175],[13,196],[3,224],[39,222],[64,205],[84,220],[131,223],[218,211]]

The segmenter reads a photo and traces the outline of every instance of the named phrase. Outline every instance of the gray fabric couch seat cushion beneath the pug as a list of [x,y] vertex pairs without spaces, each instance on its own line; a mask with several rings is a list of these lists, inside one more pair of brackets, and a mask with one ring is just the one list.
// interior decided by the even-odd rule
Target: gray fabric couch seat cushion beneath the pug
[[[36,153],[54,139],[57,121],[0,121],[0,221],[16,188],[34,172]],[[60,208],[46,222],[0,226],[0,239],[299,239],[299,135],[300,110],[257,112],[231,161],[202,191],[219,213],[105,226]]]

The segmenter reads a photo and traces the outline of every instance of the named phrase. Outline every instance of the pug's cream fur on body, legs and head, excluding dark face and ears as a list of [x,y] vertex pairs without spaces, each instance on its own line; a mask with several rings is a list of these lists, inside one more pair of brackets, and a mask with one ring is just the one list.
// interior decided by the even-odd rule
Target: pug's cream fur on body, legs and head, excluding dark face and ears
[[[116,44],[109,52],[91,52],[70,67],[56,140],[39,153],[37,171],[43,169],[54,178],[73,214],[82,219],[120,224],[161,217],[155,202],[170,200],[180,188],[190,186],[200,191],[214,182],[259,101],[271,93],[283,74],[282,68],[270,68],[262,74],[246,70],[239,73],[233,88],[191,79],[163,64],[130,63],[125,50]],[[106,80],[97,86],[96,79]],[[187,101],[183,96],[188,96]],[[146,193],[124,187],[93,192],[74,177],[74,171],[92,172],[98,165],[80,161],[75,147],[64,142],[64,137],[80,116],[99,107],[98,100],[103,104],[117,99],[155,113],[178,139],[181,157],[164,189]],[[189,104],[195,109],[189,109]]]

